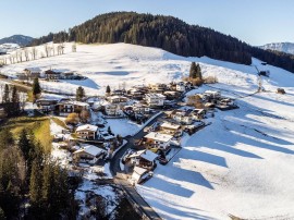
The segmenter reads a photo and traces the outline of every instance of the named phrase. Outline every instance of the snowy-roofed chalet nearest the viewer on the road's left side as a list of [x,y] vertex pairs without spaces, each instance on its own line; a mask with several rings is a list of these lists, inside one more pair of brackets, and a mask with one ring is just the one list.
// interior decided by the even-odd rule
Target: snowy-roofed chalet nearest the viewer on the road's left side
[[106,151],[103,149],[93,145],[83,145],[82,148],[73,152],[73,159],[76,162],[87,162],[95,164],[105,155]]

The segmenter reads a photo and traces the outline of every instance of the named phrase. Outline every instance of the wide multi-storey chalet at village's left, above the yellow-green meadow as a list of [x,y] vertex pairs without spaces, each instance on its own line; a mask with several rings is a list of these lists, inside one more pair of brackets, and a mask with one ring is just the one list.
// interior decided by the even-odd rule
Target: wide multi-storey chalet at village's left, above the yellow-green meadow
[[61,117],[66,117],[73,112],[79,113],[88,109],[89,105],[81,101],[64,100],[57,103],[57,111]]

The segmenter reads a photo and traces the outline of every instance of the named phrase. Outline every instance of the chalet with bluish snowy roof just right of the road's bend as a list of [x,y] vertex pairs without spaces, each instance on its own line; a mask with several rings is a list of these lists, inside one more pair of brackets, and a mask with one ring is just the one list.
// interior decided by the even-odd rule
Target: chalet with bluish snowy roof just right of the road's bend
[[131,162],[137,167],[152,169],[156,164],[158,155],[151,150],[139,150],[128,156]]

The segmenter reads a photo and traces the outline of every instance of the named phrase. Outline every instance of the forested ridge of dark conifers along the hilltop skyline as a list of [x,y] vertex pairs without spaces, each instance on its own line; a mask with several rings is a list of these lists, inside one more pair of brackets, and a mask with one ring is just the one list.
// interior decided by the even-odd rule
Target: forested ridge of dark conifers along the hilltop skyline
[[232,36],[173,16],[113,12],[98,15],[69,32],[50,33],[33,41],[126,42],[162,48],[184,57],[207,56],[212,59],[250,64],[252,57],[294,72],[294,56],[252,47]]

